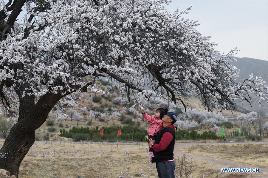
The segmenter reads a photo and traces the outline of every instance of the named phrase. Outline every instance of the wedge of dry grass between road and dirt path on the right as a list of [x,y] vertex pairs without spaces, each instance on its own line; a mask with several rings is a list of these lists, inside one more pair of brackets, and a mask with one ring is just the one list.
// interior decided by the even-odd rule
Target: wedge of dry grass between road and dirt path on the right
[[265,167],[268,169],[268,145],[266,144],[232,144],[232,145],[209,145],[211,149],[200,147],[187,147],[181,149],[182,152],[189,152],[196,155],[216,157],[231,160],[239,163]]

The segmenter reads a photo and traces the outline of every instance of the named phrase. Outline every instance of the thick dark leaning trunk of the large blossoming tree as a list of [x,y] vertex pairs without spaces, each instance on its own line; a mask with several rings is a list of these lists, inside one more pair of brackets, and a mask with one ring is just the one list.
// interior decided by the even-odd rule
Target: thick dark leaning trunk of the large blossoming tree
[[[28,153],[35,142],[35,130],[38,129],[47,119],[49,111],[62,97],[61,95],[48,93],[42,96],[31,111],[21,111],[18,122],[13,125],[7,136],[3,147],[0,150],[0,168],[18,177],[18,170],[21,161]],[[27,97],[26,97],[27,98]],[[25,98],[25,99],[26,99]],[[29,98],[27,98],[29,101]],[[25,103],[20,101],[20,104]],[[23,115],[23,117],[21,117]]]

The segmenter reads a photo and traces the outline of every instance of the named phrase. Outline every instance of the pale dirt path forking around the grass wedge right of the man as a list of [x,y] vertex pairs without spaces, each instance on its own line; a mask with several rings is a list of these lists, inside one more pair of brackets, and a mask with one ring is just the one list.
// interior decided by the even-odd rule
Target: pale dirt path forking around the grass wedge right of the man
[[[207,143],[207,145],[212,145],[212,144]],[[219,144],[224,144],[224,143],[219,143]],[[245,143],[226,143],[226,144],[245,144]],[[248,143],[246,143],[246,144],[248,144]],[[259,143],[252,142],[249,144],[268,144],[268,142],[259,142]],[[185,148],[185,147],[190,147],[192,145],[193,145],[192,143],[176,143],[175,148],[174,148],[174,157],[175,158],[179,157],[185,153],[186,155],[192,156],[193,160],[201,160],[201,161],[204,161],[205,163],[219,166],[219,171],[221,170],[221,168],[258,168],[259,167],[259,166],[254,166],[254,165],[248,165],[246,163],[238,163],[238,162],[231,161],[231,160],[225,160],[225,159],[215,158],[215,157],[207,157],[207,156],[202,156],[202,155],[195,155],[192,153],[180,151],[180,149]],[[194,144],[194,145],[196,145],[196,144]],[[204,145],[204,143],[202,143],[200,145]],[[247,173],[247,177],[268,178],[268,167],[259,167],[259,168],[260,168],[259,173]]]

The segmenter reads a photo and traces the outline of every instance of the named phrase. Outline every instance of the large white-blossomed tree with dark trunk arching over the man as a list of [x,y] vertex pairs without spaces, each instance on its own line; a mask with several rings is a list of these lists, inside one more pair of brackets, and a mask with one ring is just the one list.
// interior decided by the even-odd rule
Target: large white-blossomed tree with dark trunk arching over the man
[[[215,50],[198,24],[168,13],[168,1],[9,0],[0,11],[0,98],[2,112],[15,124],[0,152],[0,168],[18,177],[35,130],[49,111],[81,92],[105,94],[96,86],[102,76],[144,105],[167,97],[190,107],[194,93],[210,111],[235,109],[250,93],[267,101],[267,86],[251,74],[236,83],[239,71],[231,56]],[[22,8],[24,22],[16,19]],[[267,101],[268,102],[268,101]],[[134,107],[133,107],[134,108]],[[132,108],[132,109],[133,109]],[[130,110],[131,111],[131,110]]]

